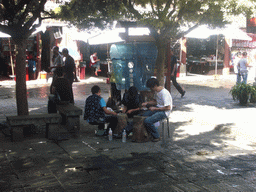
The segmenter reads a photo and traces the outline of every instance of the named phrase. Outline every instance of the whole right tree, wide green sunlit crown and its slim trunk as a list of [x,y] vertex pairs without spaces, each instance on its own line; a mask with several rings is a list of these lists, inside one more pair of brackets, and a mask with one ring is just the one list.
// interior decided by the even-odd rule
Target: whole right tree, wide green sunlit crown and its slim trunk
[[163,83],[167,43],[201,24],[221,27],[228,23],[228,15],[250,16],[254,8],[255,0],[72,0],[61,8],[60,16],[79,27],[113,19],[148,27],[158,48],[157,74]]

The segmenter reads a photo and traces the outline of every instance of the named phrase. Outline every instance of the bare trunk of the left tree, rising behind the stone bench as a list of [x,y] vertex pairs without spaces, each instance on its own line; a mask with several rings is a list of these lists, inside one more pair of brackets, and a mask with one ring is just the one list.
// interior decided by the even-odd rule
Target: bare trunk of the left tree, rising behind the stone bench
[[27,40],[14,40],[17,46],[16,56],[16,104],[19,116],[28,115],[26,87],[26,44]]

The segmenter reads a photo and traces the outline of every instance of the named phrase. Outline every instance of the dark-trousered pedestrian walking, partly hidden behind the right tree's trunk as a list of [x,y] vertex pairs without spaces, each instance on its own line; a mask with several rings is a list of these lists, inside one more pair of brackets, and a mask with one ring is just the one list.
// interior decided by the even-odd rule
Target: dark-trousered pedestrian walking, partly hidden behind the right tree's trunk
[[176,89],[179,91],[179,93],[181,94],[181,97],[183,97],[186,93],[186,91],[184,91],[181,86],[177,83],[176,81],[176,76],[177,76],[177,58],[174,56],[173,53],[173,49],[170,50],[170,55],[171,55],[171,81],[174,85],[174,87],[176,87]]

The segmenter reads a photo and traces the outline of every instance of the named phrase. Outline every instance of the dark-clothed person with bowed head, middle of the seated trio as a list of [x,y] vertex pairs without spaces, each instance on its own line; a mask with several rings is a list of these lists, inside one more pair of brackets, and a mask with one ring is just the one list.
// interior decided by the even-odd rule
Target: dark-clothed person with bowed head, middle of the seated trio
[[128,118],[132,118],[134,115],[138,115],[142,112],[142,96],[138,93],[135,86],[129,88],[129,90],[124,93],[122,104],[124,105],[123,113],[128,115]]

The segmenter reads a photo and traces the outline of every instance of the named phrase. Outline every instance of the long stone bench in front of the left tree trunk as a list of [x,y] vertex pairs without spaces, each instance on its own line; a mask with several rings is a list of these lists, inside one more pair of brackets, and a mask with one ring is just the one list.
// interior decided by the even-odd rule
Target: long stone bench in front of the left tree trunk
[[[7,124],[11,127],[12,141],[22,141],[24,139],[24,128],[34,125],[40,127],[39,132],[43,133],[48,139],[52,139],[60,130],[61,115],[53,114],[34,114],[23,116],[7,116]],[[45,130],[42,126],[46,126]]]

